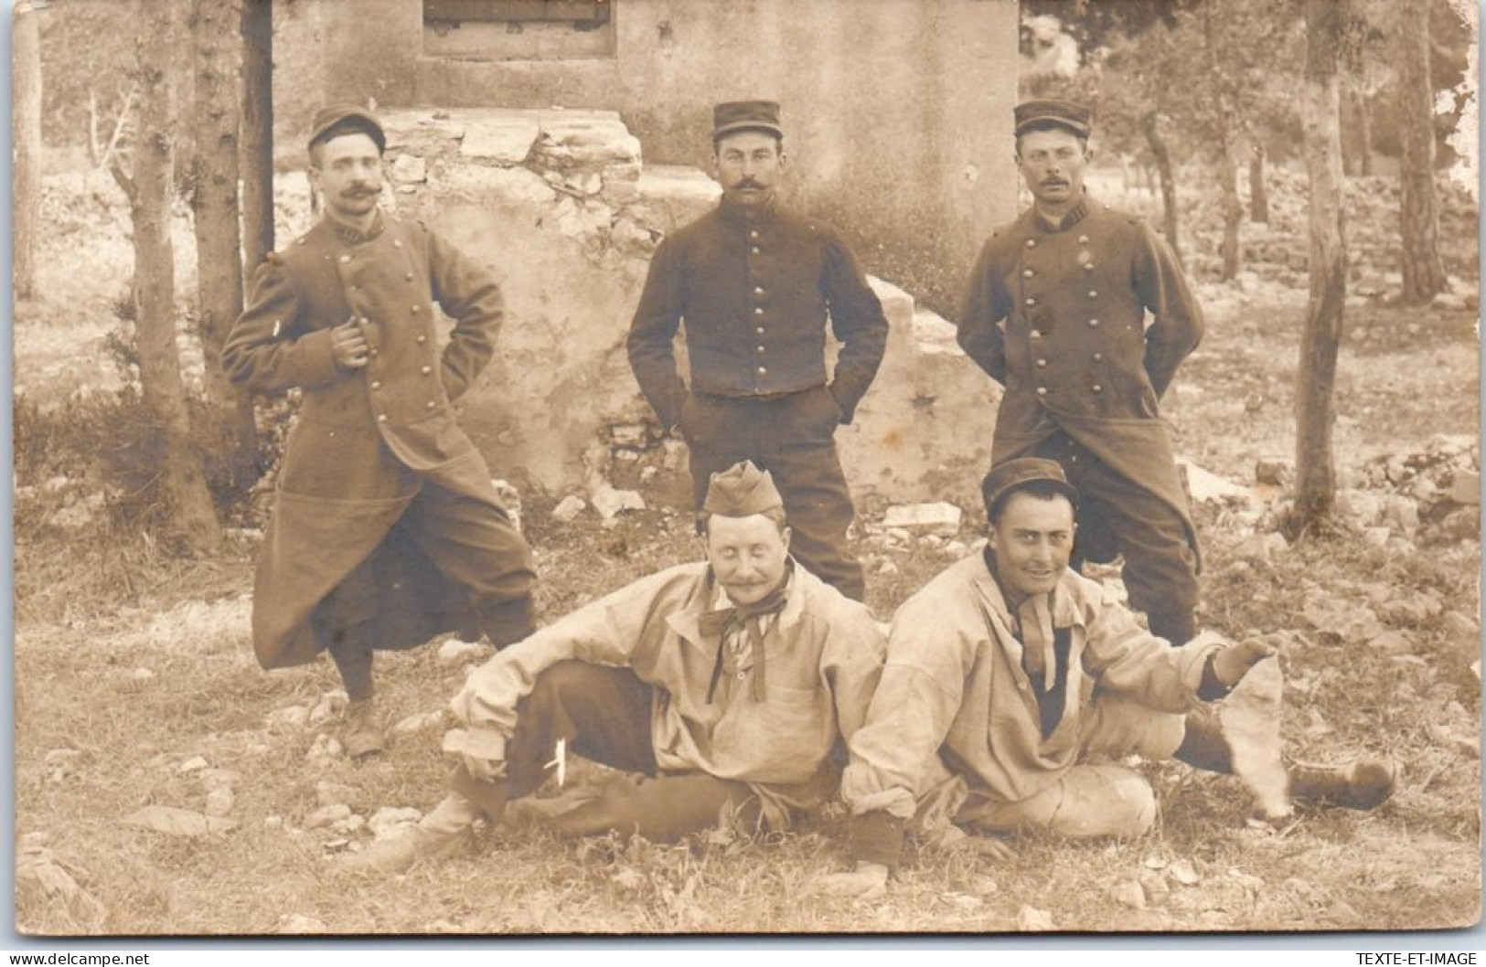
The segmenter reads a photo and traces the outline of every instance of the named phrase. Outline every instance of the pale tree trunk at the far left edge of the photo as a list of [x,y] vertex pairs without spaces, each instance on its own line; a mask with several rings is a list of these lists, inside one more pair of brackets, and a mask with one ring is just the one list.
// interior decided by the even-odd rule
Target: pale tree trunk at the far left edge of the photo
[[16,299],[36,294],[36,233],[42,220],[42,27],[40,13],[28,0],[15,7],[12,27],[12,77],[15,116],[15,184],[12,223]]

